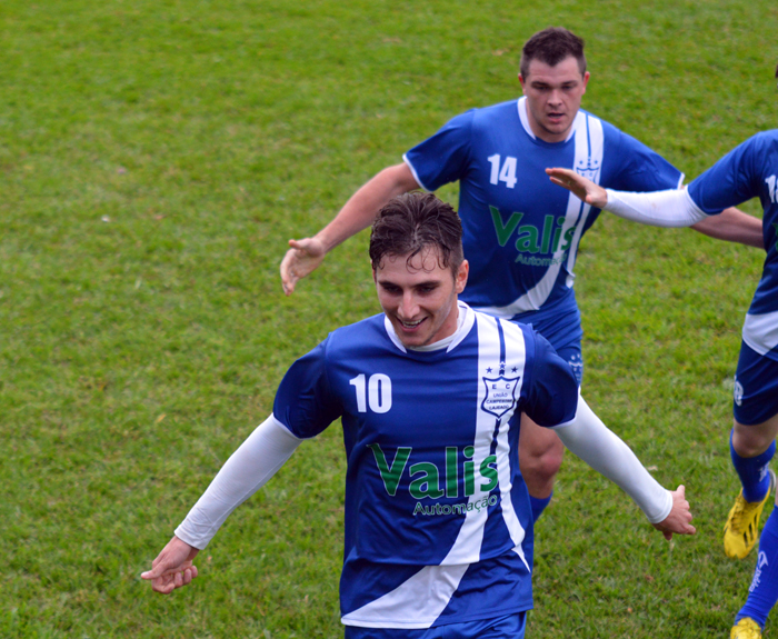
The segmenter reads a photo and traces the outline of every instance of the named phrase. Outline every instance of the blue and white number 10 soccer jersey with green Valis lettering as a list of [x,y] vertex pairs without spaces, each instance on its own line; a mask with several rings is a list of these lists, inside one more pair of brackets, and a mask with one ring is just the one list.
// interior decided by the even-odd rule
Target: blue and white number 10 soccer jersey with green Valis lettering
[[575,377],[530,328],[476,312],[441,350],[407,350],[383,314],[336,330],[281,382],[299,438],[342,419],[342,621],[429,628],[532,606],[520,413],[575,418]]

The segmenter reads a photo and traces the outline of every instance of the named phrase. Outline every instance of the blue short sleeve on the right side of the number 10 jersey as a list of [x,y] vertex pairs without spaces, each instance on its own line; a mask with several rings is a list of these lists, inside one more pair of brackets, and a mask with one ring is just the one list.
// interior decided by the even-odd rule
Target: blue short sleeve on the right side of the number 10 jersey
[[527,332],[533,338],[535,358],[523,411],[535,423],[545,427],[572,421],[578,407],[578,382],[570,365],[541,335]]

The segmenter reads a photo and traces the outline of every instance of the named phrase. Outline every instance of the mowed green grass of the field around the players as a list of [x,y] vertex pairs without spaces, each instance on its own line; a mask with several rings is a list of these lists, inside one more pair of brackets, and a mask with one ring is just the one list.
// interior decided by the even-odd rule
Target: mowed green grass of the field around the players
[[[448,118],[515,98],[550,24],[587,40],[585,108],[689,177],[776,126],[767,0],[2,3],[0,637],[342,636],[337,423],[232,515],[192,587],[139,575],[293,359],[378,310],[365,234],[289,299],[288,238]],[[608,216],[585,239],[585,395],[687,486],[699,532],[666,543],[569,457],[528,637],[727,636],[754,566],[720,529],[762,257]]]

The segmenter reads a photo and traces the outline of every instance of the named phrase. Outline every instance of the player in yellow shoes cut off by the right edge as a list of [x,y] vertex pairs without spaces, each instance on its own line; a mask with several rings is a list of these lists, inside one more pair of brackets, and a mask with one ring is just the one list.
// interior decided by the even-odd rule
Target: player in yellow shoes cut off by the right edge
[[[778,78],[778,69],[776,69]],[[742,327],[735,376],[730,455],[742,489],[729,511],[724,547],[745,558],[757,540],[759,517],[775,485],[768,465],[778,435],[778,130],[758,133],[727,153],[682,191],[624,193],[605,190],[573,171],[550,169],[551,181],[588,204],[654,226],[688,226],[759,198],[767,251],[761,279]],[[735,618],[731,639],[758,639],[778,601],[778,510],[759,540],[754,580]]]

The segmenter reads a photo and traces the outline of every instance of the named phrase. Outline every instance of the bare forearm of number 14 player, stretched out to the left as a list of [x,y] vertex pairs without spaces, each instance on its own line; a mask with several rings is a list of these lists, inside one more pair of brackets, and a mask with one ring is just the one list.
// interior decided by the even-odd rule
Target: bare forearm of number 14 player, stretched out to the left
[[405,163],[383,169],[351,196],[335,219],[316,234],[316,239],[329,252],[372,224],[378,211],[391,198],[418,188],[419,184]]

